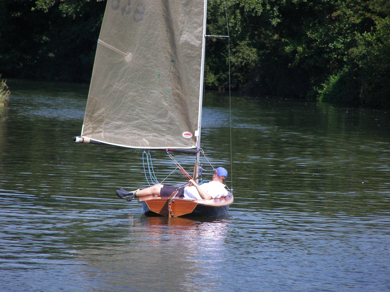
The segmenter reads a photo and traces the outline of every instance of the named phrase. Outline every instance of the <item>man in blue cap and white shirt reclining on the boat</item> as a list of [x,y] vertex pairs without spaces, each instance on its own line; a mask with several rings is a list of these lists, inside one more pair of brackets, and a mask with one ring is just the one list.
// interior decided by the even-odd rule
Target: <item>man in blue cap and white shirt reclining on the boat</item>
[[164,185],[161,183],[152,185],[144,189],[137,189],[133,192],[128,192],[123,188],[117,190],[119,198],[131,201],[134,198],[155,195],[157,197],[166,198],[177,191],[177,197],[183,197],[188,200],[211,200],[215,198],[226,197],[228,191],[223,183],[228,176],[228,171],[223,167],[213,169],[213,179],[208,183],[197,184],[194,180],[190,180],[192,185],[182,187]]

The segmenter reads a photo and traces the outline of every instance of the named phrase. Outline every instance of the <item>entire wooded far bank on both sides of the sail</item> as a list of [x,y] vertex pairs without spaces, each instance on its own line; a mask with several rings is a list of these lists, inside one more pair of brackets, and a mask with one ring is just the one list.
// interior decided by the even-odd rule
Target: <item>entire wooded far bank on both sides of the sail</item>
[[[0,1],[1,73],[89,82],[107,1],[136,3]],[[207,39],[206,90],[390,110],[389,0],[208,0],[207,34],[227,23],[229,41]]]

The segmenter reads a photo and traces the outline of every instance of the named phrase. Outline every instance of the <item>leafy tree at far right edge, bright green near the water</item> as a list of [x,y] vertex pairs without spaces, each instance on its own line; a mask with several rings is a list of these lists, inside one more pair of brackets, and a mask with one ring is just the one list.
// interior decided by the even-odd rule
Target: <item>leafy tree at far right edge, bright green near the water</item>
[[346,1],[340,6],[340,23],[353,27],[343,35],[352,46],[319,89],[319,98],[371,107],[390,108],[390,4],[383,0]]

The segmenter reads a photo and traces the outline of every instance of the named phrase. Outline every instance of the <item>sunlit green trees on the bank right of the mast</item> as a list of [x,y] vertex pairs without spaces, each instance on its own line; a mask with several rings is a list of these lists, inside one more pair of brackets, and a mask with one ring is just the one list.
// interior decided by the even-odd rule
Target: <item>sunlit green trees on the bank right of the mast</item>
[[[389,3],[226,0],[234,89],[389,108]],[[219,85],[220,68],[208,72]]]

